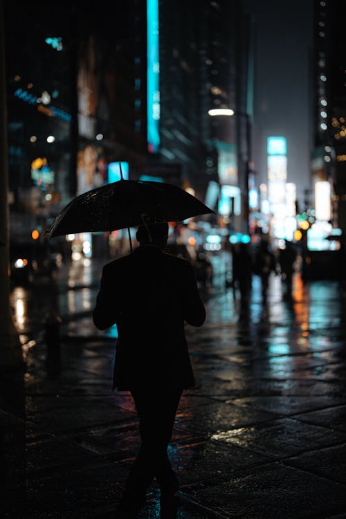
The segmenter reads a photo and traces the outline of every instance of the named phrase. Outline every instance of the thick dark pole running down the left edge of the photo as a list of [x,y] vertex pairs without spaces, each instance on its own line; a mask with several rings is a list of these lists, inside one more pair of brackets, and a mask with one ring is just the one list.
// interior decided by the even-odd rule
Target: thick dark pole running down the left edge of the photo
[[19,335],[10,310],[6,65],[3,3],[0,5],[0,367],[23,367]]

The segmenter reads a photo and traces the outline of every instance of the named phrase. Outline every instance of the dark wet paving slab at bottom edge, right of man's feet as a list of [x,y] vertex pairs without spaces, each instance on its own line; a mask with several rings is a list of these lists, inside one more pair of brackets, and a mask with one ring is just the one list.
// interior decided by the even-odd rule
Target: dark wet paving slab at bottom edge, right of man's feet
[[215,478],[184,491],[232,519],[322,519],[346,511],[345,485],[282,464]]

